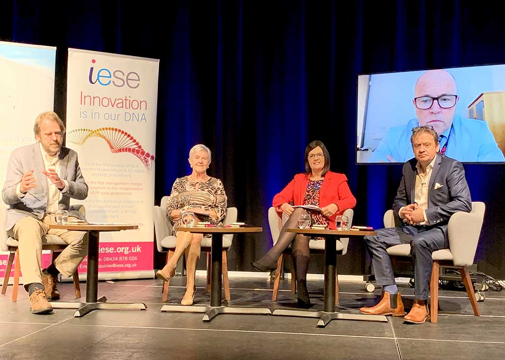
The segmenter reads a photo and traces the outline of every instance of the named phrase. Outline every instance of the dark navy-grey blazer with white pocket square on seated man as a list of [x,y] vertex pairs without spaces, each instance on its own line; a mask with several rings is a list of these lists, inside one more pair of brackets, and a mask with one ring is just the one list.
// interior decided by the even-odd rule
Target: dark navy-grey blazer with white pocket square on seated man
[[[417,160],[403,164],[402,175],[393,210],[396,215],[402,206],[414,203],[416,188]],[[461,162],[437,154],[428,188],[428,209],[426,217],[432,226],[442,228],[447,237],[447,222],[457,211],[470,212],[472,199]]]

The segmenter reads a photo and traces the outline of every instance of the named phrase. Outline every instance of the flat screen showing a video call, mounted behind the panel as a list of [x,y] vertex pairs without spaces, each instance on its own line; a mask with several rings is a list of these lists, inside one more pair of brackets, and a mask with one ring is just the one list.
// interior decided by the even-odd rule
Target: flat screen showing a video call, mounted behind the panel
[[359,75],[357,103],[358,164],[413,158],[418,126],[448,157],[505,162],[505,65]]

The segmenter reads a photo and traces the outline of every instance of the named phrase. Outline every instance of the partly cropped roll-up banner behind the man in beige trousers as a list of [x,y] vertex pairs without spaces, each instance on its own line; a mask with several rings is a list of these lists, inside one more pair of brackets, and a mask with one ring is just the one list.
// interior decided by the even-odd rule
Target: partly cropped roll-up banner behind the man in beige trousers
[[[33,124],[37,115],[53,110],[56,47],[0,41],[0,182],[4,186],[11,152],[35,143]],[[6,205],[2,202],[5,219]],[[5,236],[4,222],[2,235]],[[7,252],[0,253],[0,276],[4,277]],[[42,255],[47,264],[49,255]],[[13,267],[14,268],[14,267]],[[14,276],[12,269],[11,276]]]

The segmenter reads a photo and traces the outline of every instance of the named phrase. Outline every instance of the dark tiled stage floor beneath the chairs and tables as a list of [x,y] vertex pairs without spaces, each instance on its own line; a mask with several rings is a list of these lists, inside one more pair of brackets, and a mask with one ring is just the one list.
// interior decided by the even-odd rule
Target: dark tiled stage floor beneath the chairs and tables
[[[171,280],[168,303],[178,304],[185,278]],[[209,305],[205,278],[197,277],[196,305]],[[339,320],[317,328],[317,319],[268,315],[219,315],[209,323],[202,314],[161,313],[160,280],[100,282],[98,294],[109,301],[143,302],[146,311],[94,311],[73,318],[74,310],[55,309],[32,315],[20,286],[12,303],[12,286],[0,296],[0,359],[503,359],[505,354],[505,290],[485,291],[481,317],[473,316],[465,291],[439,292],[438,323],[404,324]],[[62,301],[74,301],[73,285],[60,284]],[[281,281],[279,301],[270,301],[267,279],[230,278],[230,306],[293,309],[296,297]],[[322,310],[323,282],[309,281],[313,311]],[[410,308],[413,289],[401,287]],[[81,283],[85,294],[85,283]],[[224,292],[223,292],[224,296]],[[380,296],[364,290],[364,282],[340,282],[342,312],[357,313]]]

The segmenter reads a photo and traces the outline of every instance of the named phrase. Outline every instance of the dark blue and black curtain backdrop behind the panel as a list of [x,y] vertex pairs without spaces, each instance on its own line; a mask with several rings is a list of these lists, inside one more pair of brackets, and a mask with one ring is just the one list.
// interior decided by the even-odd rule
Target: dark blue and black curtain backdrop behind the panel
[[[239,219],[261,236],[237,236],[231,270],[271,246],[272,197],[304,170],[308,142],[322,140],[331,168],[358,199],[355,223],[380,227],[400,177],[397,165],[356,165],[357,74],[505,62],[502,15],[466,1],[172,1],[163,5],[4,1],[0,39],[58,47],[55,109],[66,104],[67,48],[159,58],[156,202],[189,173],[196,143],[213,150]],[[4,121],[9,119],[4,119]],[[486,202],[479,270],[502,267],[502,165],[465,165],[472,198]],[[365,271],[360,241],[340,273]],[[158,257],[155,267],[160,267]],[[318,270],[318,261],[311,271]]]

